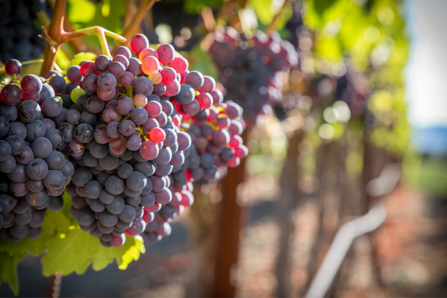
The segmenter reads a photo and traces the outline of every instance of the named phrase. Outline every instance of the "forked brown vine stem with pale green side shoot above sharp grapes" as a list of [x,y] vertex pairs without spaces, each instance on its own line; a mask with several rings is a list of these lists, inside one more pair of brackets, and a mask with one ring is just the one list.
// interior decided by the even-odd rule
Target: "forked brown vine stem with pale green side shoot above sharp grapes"
[[126,39],[116,33],[108,31],[99,26],[93,26],[89,28],[79,29],[71,32],[66,32],[64,30],[64,13],[65,5],[67,0],[56,0],[53,10],[53,17],[51,18],[50,25],[48,29],[42,26],[43,36],[42,38],[47,40],[47,45],[45,47],[44,62],[40,70],[40,75],[44,76],[48,71],[54,67],[56,62],[56,54],[65,42],[68,42],[76,37],[83,35],[96,35],[99,38],[101,44],[101,49],[104,55],[111,56],[110,50],[107,45],[105,36],[110,36],[121,42],[126,41]]

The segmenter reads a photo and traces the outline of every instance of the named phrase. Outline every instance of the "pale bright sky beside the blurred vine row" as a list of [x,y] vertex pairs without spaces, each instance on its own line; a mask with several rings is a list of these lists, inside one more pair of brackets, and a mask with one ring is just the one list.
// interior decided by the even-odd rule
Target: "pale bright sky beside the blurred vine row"
[[447,0],[408,0],[408,117],[415,128],[447,127]]

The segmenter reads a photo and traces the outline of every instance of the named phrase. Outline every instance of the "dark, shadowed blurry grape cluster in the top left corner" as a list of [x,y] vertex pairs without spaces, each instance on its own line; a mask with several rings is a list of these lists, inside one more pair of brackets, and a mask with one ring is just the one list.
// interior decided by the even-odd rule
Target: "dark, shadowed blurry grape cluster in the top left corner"
[[0,1],[0,61],[28,61],[43,53],[45,41],[38,37],[42,32],[35,13],[44,4],[44,0]]

